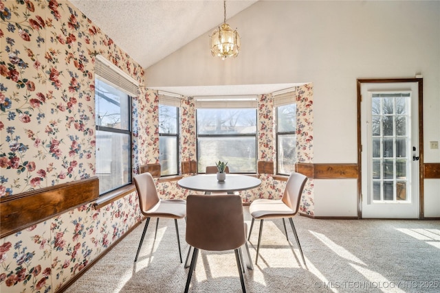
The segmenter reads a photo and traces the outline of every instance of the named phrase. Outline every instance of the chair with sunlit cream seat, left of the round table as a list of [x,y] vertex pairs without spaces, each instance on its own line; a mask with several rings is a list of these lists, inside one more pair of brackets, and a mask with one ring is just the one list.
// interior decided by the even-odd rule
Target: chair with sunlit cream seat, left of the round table
[[[177,245],[179,246],[180,262],[181,260],[181,249],[180,249],[180,239],[179,239],[179,228],[177,226],[177,219],[185,218],[186,216],[186,200],[161,200],[157,196],[156,185],[153,180],[153,176],[150,173],[142,173],[134,177],[135,186],[137,190],[137,195],[139,197],[140,211],[143,215],[146,215],[146,223],[142,237],[140,237],[139,247],[137,248],[137,253],[135,261],[139,256],[140,248],[142,247],[142,242],[144,242],[144,237],[146,233],[146,228],[148,228],[148,223],[151,217],[157,217],[157,223],[159,223],[159,218],[171,218],[174,219],[177,233]],[[155,237],[157,233],[157,224]]]

